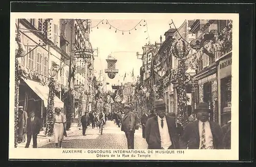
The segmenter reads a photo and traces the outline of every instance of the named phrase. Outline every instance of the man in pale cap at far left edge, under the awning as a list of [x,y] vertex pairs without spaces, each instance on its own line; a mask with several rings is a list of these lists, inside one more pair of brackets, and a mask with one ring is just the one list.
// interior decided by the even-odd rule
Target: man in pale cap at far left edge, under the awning
[[18,143],[26,140],[28,114],[23,110],[23,106],[18,106]]

